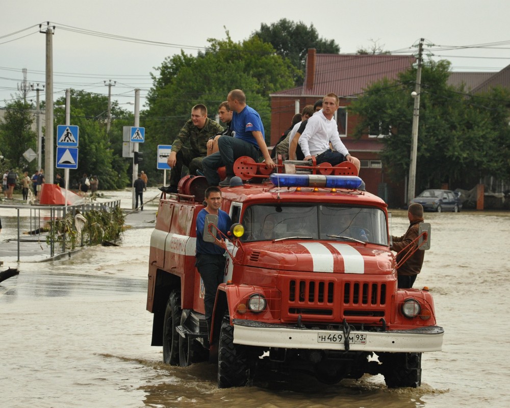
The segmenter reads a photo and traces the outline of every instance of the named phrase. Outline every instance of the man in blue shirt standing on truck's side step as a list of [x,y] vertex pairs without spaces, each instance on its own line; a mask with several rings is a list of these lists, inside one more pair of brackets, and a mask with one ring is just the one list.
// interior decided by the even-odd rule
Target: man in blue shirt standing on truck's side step
[[[226,243],[223,238],[216,241],[205,242],[203,240],[203,227],[206,222],[207,214],[218,216],[218,230],[225,234],[230,230],[232,220],[227,213],[220,210],[221,207],[221,190],[218,187],[208,187],[205,192],[206,208],[200,210],[196,217],[196,262],[195,266],[198,273],[202,277],[203,286],[206,290],[203,297],[203,305],[206,309],[206,320],[208,333],[211,328],[211,320],[213,317],[214,300],[216,298],[216,289],[223,282],[225,271],[225,249]],[[212,230],[213,234],[216,230]]]

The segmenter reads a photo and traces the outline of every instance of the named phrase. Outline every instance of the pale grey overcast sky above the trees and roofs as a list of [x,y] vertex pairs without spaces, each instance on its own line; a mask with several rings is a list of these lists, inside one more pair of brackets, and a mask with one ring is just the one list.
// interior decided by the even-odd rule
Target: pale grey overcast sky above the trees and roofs
[[[45,36],[38,24],[45,29],[46,21],[56,25],[54,99],[65,88],[108,94],[104,81],[111,80],[117,82],[112,98],[130,110],[135,88],[141,89],[143,108],[152,85],[149,74],[165,57],[181,49],[196,54],[208,38],[224,39],[225,29],[234,41],[242,41],[261,23],[281,18],[309,27],[313,23],[320,37],[340,45],[341,53],[370,48],[376,40],[385,50],[409,49],[411,54],[423,37],[435,44],[433,58],[450,60],[453,71],[497,72],[510,64],[510,2],[504,0],[2,0],[0,15],[0,107],[17,92],[23,68],[28,83],[44,84]],[[114,40],[90,31],[167,45]],[[35,100],[35,92],[28,97]]]

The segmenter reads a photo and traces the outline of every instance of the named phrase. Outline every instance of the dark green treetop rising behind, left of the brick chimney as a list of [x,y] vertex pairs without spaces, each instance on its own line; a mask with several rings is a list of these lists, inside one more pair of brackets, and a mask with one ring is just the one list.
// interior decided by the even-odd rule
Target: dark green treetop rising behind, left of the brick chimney
[[292,65],[299,70],[294,77],[296,85],[303,83],[309,48],[315,48],[320,54],[340,53],[340,46],[335,40],[319,37],[313,23],[307,27],[302,21],[296,23],[282,18],[269,25],[262,23],[260,29],[254,31],[251,36],[257,36],[262,41],[270,43],[276,50],[276,54],[291,61]]

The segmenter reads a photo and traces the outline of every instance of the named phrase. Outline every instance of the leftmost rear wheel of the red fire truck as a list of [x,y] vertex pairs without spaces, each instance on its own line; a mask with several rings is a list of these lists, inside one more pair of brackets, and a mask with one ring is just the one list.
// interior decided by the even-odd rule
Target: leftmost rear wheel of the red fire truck
[[181,321],[181,293],[170,293],[163,321],[163,362],[176,366],[179,364],[179,334],[175,328]]

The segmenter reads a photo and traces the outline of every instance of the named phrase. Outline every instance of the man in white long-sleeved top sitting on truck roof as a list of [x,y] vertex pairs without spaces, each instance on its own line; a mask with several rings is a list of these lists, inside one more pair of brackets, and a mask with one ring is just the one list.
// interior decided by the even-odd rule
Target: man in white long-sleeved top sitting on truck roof
[[[304,160],[315,156],[317,164],[327,162],[332,166],[348,161],[360,171],[359,159],[351,156],[338,134],[338,125],[333,119],[338,110],[339,100],[334,93],[324,96],[322,110],[308,119],[307,127],[299,138]],[[329,143],[336,151],[331,151]]]

